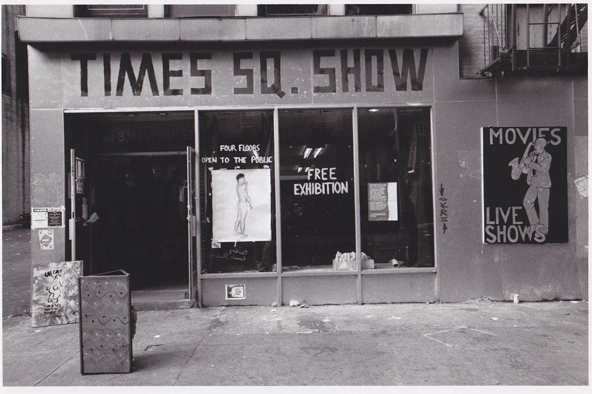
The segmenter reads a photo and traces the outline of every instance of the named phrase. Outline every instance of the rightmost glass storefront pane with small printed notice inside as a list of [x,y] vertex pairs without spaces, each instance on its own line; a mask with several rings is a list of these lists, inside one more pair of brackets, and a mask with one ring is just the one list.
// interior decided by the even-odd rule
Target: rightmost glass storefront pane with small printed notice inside
[[358,110],[362,252],[374,268],[433,267],[429,108]]

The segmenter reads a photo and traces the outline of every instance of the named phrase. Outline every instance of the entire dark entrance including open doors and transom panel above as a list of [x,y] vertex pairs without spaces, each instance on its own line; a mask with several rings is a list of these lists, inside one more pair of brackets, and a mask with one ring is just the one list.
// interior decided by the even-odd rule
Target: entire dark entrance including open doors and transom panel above
[[66,259],[128,272],[140,309],[197,299],[194,128],[193,110],[65,114]]

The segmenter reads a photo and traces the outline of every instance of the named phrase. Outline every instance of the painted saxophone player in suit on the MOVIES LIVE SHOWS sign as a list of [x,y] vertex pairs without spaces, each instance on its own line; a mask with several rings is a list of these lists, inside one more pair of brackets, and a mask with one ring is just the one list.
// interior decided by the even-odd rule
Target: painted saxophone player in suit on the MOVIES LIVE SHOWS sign
[[[531,230],[546,235],[549,233],[549,189],[551,188],[551,154],[545,150],[547,141],[544,138],[536,139],[535,143],[529,142],[523,157],[513,159],[511,177],[517,180],[521,174],[527,174],[526,183],[528,190],[522,201],[522,206],[528,216]],[[529,153],[530,147],[535,150]],[[535,201],[538,200],[539,213],[535,209]]]

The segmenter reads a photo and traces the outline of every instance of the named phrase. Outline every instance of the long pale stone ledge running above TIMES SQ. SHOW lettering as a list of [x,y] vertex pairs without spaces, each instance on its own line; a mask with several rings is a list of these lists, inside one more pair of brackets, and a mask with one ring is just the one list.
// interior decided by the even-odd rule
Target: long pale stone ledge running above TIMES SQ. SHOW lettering
[[462,35],[462,14],[252,18],[18,18],[26,43],[282,41]]

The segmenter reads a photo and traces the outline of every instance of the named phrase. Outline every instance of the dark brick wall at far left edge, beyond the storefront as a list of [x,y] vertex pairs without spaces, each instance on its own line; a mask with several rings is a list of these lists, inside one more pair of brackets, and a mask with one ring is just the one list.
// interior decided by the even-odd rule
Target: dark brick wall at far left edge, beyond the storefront
[[[31,209],[27,62],[26,56],[17,61],[15,43],[15,17],[24,14],[24,5],[2,5],[2,224],[16,222]],[[24,83],[17,80],[17,70],[19,76],[24,71]]]

